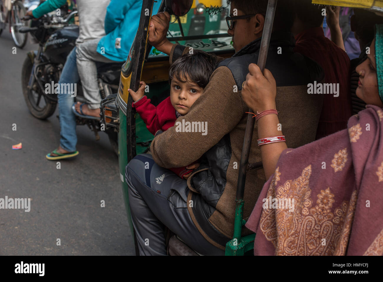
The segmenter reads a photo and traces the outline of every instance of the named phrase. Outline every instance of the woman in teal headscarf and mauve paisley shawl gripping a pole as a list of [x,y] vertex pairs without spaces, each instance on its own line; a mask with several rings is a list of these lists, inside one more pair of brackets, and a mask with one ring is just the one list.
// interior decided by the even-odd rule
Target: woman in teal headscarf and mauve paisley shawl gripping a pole
[[254,110],[266,178],[246,223],[255,255],[383,254],[383,25],[357,66],[367,103],[347,129],[289,149],[273,75],[255,64],[242,89]]

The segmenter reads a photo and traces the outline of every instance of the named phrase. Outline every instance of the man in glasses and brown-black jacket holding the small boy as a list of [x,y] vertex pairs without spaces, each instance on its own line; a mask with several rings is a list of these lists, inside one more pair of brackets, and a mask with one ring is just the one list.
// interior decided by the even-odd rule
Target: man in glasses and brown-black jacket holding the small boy
[[[231,4],[228,33],[236,53],[228,59],[219,58],[203,93],[187,113],[177,118],[177,122],[184,120],[185,123],[206,121],[208,134],[179,132],[175,126],[157,131],[151,144],[152,155],[136,156],[126,167],[129,205],[141,255],[166,255],[165,227],[204,255],[223,255],[226,242],[232,239],[238,168],[248,111],[241,90],[249,64],[258,60],[267,0],[233,0],[231,3],[228,0],[228,4]],[[275,127],[283,128],[287,146],[296,148],[315,139],[316,126],[313,125],[318,124],[323,96],[308,94],[307,84],[320,82],[324,73],[316,62],[293,51],[292,7],[288,1],[277,5],[266,68],[277,83],[280,124]],[[152,17],[149,42],[169,54],[173,64],[190,49],[167,40],[169,21],[167,12]],[[187,80],[187,76],[181,79]],[[257,139],[255,128],[250,163],[261,161]],[[195,169],[187,180],[168,170],[197,160],[201,165],[194,164]],[[262,167],[247,172],[245,220],[265,182]],[[242,233],[246,235],[251,231],[245,229]]]

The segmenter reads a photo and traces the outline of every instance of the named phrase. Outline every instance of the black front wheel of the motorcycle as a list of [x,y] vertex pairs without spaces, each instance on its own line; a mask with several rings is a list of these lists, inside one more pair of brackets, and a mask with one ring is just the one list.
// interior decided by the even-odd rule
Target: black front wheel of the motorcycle
[[[45,120],[53,115],[56,110],[56,102],[47,101],[47,99],[33,89],[28,89],[29,77],[32,72],[33,63],[29,57],[26,57],[21,70],[21,89],[23,90],[25,103],[35,118]],[[35,82],[37,83],[37,82]],[[38,87],[36,89],[39,89]],[[41,90],[38,90],[41,91]],[[40,107],[40,105],[42,105]]]

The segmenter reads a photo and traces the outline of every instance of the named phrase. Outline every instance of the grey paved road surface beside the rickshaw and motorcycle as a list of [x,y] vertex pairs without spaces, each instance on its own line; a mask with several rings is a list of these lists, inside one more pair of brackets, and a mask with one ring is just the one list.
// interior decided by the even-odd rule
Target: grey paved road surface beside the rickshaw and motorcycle
[[[101,133],[95,141],[86,126],[78,126],[79,156],[61,161],[61,169],[48,161],[45,155],[59,144],[58,108],[45,121],[29,113],[21,92],[21,66],[37,45],[28,42],[16,54],[13,46],[10,33],[3,31],[0,198],[31,198],[31,210],[0,209],[0,255],[133,255],[118,158],[108,137]],[[11,149],[20,142],[21,150]]]

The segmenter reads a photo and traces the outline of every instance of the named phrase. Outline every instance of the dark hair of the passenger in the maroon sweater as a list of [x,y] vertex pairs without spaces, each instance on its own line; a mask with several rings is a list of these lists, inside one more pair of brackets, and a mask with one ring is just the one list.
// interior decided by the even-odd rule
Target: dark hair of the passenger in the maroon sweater
[[322,25],[324,15],[322,9],[325,6],[314,5],[311,0],[294,0],[294,9],[296,16],[306,25],[317,28]]

